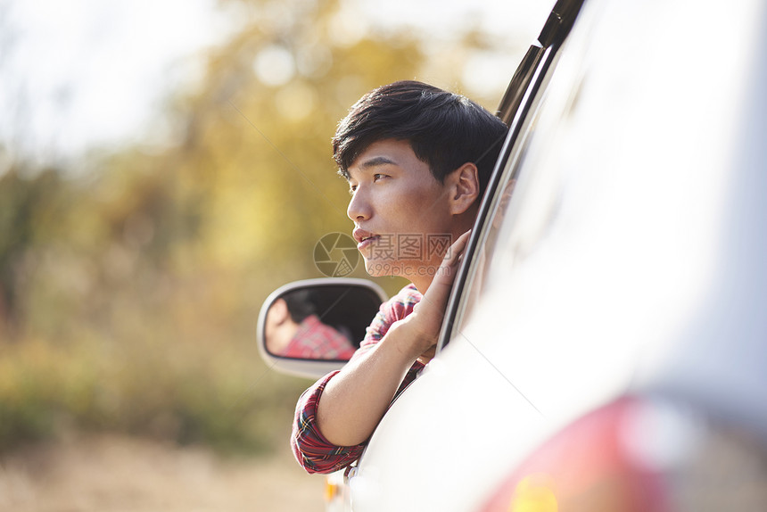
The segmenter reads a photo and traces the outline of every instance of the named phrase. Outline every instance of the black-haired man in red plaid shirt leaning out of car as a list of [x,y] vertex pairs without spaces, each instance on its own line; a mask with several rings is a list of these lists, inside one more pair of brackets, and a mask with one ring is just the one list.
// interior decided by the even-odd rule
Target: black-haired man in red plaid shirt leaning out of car
[[[433,357],[450,287],[507,133],[460,95],[415,81],[379,87],[333,139],[347,214],[371,276],[412,285],[382,305],[359,350],[296,408],[292,445],[309,473],[359,458],[398,390]],[[451,244],[451,245],[450,245]]]

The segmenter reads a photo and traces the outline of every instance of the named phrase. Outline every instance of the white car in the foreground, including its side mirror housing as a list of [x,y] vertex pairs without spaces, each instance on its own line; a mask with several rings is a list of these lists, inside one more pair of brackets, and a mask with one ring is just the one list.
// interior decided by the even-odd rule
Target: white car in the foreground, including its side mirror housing
[[767,510],[767,3],[561,0],[499,115],[440,350],[334,506]]

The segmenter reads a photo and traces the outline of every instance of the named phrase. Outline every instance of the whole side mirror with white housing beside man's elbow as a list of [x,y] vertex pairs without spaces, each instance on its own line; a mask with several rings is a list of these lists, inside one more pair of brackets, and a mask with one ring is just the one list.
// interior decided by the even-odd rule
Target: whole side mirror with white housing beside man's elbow
[[278,288],[259,313],[261,358],[278,371],[318,378],[341,368],[387,299],[366,279],[327,277]]

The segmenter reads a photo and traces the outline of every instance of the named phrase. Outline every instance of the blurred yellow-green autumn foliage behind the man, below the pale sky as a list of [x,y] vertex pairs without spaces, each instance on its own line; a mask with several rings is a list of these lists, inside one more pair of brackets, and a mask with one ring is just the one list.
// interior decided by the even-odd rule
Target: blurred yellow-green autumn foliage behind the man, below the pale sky
[[255,323],[276,286],[320,277],[322,235],[351,228],[336,122],[393,80],[455,89],[487,46],[466,33],[437,65],[412,30],[355,35],[336,0],[234,4],[251,21],[169,100],[165,144],[0,175],[0,450],[71,429],[285,444],[307,383],[264,366]]

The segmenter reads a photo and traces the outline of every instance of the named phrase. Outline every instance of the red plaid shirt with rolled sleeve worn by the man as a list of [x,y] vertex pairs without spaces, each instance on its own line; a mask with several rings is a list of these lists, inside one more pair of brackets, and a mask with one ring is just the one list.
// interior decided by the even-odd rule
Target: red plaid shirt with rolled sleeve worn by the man
[[[358,358],[361,354],[369,351],[371,347],[381,341],[381,338],[389,331],[389,327],[394,322],[413,312],[413,306],[421,300],[421,296],[414,285],[407,285],[400,290],[400,293],[384,302],[373,322],[367,327],[365,339],[359,344],[359,350],[355,352],[353,358]],[[400,384],[397,395],[408,384],[416,380],[418,372],[423,367],[424,365],[419,361],[410,367],[408,374]],[[336,446],[328,442],[325,436],[319,432],[317,426],[318,402],[326,384],[337,373],[334,371],[319,379],[317,383],[301,394],[296,405],[291,447],[299,464],[309,473],[333,473],[342,467],[347,467],[359,458],[367,444],[366,441],[356,446]]]

